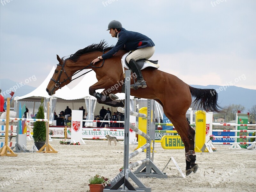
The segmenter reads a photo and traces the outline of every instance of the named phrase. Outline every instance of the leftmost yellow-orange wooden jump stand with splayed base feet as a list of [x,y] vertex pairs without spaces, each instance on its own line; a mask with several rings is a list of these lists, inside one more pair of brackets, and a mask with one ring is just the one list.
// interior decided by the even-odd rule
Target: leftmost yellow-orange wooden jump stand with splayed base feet
[[[10,98],[7,98],[7,108],[6,108],[6,122],[5,122],[5,140],[4,146],[0,150],[0,156],[12,156],[17,157],[12,149],[8,146],[8,132],[9,132],[9,118],[10,118]],[[8,153],[8,151],[10,153]]]

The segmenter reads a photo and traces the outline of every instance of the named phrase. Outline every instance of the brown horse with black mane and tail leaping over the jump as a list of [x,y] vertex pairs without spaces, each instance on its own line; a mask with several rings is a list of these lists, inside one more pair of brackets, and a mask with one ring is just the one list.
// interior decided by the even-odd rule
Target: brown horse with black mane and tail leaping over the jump
[[[121,65],[122,56],[127,53],[126,50],[119,50],[115,55],[106,60],[100,60],[95,65],[92,60],[108,52],[113,46],[108,46],[102,40],[99,44],[92,44],[84,49],[63,59],[57,55],[57,68],[46,88],[49,95],[69,84],[72,76],[83,69],[92,69],[96,73],[97,83],[89,88],[89,94],[96,97],[101,104],[113,107],[124,107],[123,101],[116,101],[116,93],[122,92],[124,84],[124,75]],[[179,133],[185,146],[186,175],[196,172],[198,164],[195,154],[195,131],[188,124],[186,112],[192,104],[196,108],[201,108],[207,112],[221,112],[217,103],[218,94],[214,89],[198,89],[184,83],[178,77],[160,71],[156,68],[145,68],[142,75],[147,82],[147,88],[131,89],[131,95],[138,98],[145,98],[157,101],[164,109],[164,114],[171,120],[175,129]],[[136,76],[131,75],[135,80]],[[74,79],[73,79],[74,80]],[[98,89],[104,89],[101,93]]]

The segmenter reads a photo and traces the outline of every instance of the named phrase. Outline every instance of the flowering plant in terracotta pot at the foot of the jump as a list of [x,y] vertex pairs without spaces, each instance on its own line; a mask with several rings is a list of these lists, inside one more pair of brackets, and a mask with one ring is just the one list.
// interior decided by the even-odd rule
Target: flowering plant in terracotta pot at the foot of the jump
[[103,192],[103,189],[109,183],[109,179],[99,174],[89,179],[90,192]]

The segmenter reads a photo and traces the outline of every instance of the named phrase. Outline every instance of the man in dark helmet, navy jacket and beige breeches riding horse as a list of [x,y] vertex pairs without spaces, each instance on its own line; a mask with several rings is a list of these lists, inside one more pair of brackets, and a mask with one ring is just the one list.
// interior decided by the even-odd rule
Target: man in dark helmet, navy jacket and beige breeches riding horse
[[[138,87],[146,88],[147,84],[143,79],[141,70],[139,68],[137,60],[149,59],[155,52],[155,44],[147,36],[133,31],[127,31],[122,27],[122,24],[113,20],[108,24],[109,33],[112,37],[117,37],[116,45],[107,53],[99,56],[92,61],[93,64],[102,59],[108,59],[116,54],[121,48],[127,51],[132,51],[127,57],[126,61],[129,67],[137,75],[137,82],[135,83]],[[134,84],[131,85],[134,87]]]

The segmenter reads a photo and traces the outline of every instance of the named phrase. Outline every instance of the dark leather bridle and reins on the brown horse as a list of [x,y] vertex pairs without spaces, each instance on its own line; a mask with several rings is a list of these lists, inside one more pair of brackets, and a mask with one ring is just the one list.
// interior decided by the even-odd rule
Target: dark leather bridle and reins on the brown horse
[[[102,52],[103,52],[103,54],[104,54],[104,50],[103,50]],[[71,81],[74,81],[74,80],[77,79],[78,77],[81,77],[81,76],[85,75],[86,73],[91,72],[93,69],[90,70],[90,71],[85,72],[84,74],[82,74],[82,75],[80,75],[80,76],[78,76],[78,77],[76,77],[76,78],[74,78],[74,79],[72,79],[72,80],[70,79],[72,76],[76,75],[76,74],[79,73],[80,71],[82,71],[82,70],[84,70],[84,69],[86,69],[86,68],[88,68],[88,67],[90,67],[90,66],[91,66],[92,68],[101,68],[101,67],[104,65],[104,62],[105,62],[105,60],[103,59],[103,62],[102,62],[102,64],[101,64],[100,67],[96,67],[96,66],[92,65],[92,62],[91,62],[91,63],[90,63],[89,65],[87,65],[86,67],[80,69],[79,71],[76,71],[76,73],[74,73],[73,75],[68,76],[68,74],[66,73],[66,70],[65,70],[65,68],[64,68],[65,63],[66,63],[67,60],[68,60],[68,59],[64,60],[63,65],[57,64],[57,66],[60,66],[60,67],[61,67],[60,75],[59,75],[59,77],[58,77],[58,80],[56,81],[55,79],[51,78],[51,80],[55,83],[55,87],[57,87],[57,88],[59,88],[59,89],[61,89],[61,86],[60,86],[60,85],[61,85],[62,83],[66,83],[67,80],[69,80],[69,83],[70,83]],[[68,78],[67,78],[67,79],[64,79],[62,82],[60,82],[60,77],[61,77],[61,74],[62,74],[63,71],[64,71],[64,73],[66,74],[66,76],[67,76]]]

